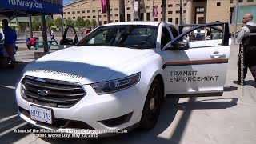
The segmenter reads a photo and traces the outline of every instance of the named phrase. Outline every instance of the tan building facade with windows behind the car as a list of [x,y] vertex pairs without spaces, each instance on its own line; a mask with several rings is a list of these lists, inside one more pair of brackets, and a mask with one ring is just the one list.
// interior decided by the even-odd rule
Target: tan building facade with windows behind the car
[[[136,2],[136,0],[125,0],[126,21],[136,20],[134,1]],[[180,24],[180,2],[180,0],[166,0],[166,22]],[[230,29],[233,30],[235,3],[236,0],[182,0],[182,23],[227,21],[230,22]],[[158,7],[157,14],[153,12],[154,6]],[[256,17],[256,0],[238,0],[238,6],[238,23],[242,24],[243,13],[253,12]],[[107,23],[106,14],[102,14],[101,11],[101,0],[71,2],[63,6],[63,12],[64,19],[76,20],[78,17],[95,19],[99,26]],[[142,21],[162,21],[162,0],[141,0],[140,12]],[[110,0],[110,21],[119,22],[119,0]],[[238,24],[239,26],[241,25]]]

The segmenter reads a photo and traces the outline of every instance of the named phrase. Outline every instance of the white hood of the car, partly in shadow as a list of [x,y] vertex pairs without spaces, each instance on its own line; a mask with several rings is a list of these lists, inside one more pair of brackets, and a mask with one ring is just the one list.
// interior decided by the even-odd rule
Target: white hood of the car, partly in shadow
[[89,84],[116,75],[126,66],[155,54],[154,49],[110,46],[74,46],[47,54],[26,66],[26,75]]

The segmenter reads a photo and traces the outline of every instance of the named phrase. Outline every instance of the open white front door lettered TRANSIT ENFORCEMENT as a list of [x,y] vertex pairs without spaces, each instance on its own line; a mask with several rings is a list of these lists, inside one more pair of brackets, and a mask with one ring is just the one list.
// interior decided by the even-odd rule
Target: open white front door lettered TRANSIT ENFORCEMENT
[[191,26],[163,48],[166,94],[222,95],[230,58],[228,23]]

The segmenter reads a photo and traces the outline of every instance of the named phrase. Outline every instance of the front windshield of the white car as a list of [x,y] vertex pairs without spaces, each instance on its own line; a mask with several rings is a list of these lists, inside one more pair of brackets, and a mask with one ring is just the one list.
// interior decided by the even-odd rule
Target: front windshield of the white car
[[101,26],[82,38],[75,46],[118,46],[152,49],[156,45],[158,26]]

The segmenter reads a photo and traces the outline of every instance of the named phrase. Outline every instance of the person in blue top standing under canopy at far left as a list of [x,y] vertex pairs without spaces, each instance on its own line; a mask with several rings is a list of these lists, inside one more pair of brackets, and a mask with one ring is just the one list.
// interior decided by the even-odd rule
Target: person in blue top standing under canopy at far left
[[5,35],[4,47],[10,58],[10,66],[14,68],[14,63],[16,62],[14,57],[14,48],[17,40],[17,34],[13,29],[10,28],[10,26],[8,26],[8,23],[9,22],[7,19],[2,20],[3,34]]

